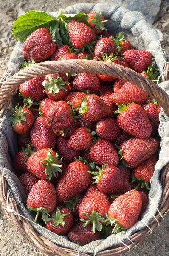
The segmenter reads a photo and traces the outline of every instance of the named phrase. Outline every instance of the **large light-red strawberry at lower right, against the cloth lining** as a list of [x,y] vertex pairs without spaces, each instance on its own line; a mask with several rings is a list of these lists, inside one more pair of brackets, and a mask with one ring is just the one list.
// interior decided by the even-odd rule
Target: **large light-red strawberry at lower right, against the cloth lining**
[[136,190],[130,190],[113,201],[108,215],[111,225],[115,224],[112,233],[129,229],[137,221],[142,207],[141,195]]

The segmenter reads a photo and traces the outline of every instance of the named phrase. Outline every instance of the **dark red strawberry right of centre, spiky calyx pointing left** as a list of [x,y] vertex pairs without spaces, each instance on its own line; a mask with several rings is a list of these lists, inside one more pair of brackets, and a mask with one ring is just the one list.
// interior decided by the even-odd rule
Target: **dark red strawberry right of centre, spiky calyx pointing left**
[[130,189],[129,182],[122,175],[121,171],[113,165],[104,165],[102,169],[96,166],[99,172],[91,172],[95,175],[93,184],[96,183],[97,188],[105,194],[120,194]]

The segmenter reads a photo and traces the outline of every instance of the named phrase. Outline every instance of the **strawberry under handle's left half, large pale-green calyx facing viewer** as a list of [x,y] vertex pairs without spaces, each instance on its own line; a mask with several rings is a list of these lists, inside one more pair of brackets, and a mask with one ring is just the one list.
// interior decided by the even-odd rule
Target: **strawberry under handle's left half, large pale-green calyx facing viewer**
[[46,75],[42,85],[47,96],[56,101],[65,98],[69,93],[69,83],[65,73]]

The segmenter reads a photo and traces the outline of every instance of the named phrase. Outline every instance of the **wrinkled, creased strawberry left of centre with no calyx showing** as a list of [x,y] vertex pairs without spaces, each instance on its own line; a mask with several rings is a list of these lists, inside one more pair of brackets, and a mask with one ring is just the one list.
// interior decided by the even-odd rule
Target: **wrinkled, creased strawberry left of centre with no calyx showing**
[[69,128],[73,122],[70,106],[62,100],[54,102],[54,104],[48,108],[45,121],[48,128],[51,128],[53,131]]

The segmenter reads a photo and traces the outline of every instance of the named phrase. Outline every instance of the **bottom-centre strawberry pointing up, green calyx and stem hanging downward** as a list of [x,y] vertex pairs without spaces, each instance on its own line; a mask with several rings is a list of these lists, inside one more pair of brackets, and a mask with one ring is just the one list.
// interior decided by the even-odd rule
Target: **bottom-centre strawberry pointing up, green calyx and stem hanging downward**
[[110,207],[110,201],[106,194],[97,189],[96,185],[90,186],[79,207],[79,217],[85,222],[84,226],[92,224],[91,231],[102,230],[105,217]]

